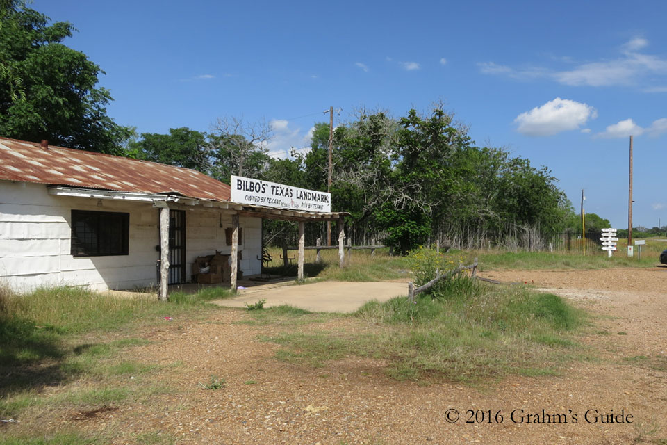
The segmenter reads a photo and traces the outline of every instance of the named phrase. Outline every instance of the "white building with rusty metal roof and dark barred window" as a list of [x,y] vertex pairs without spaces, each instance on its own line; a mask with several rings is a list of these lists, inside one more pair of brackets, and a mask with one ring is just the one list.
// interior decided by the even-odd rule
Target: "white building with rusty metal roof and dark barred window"
[[[190,282],[196,257],[231,254],[261,273],[261,215],[229,186],[185,168],[0,138],[0,283],[131,289],[158,282],[160,209],[169,212],[169,284]],[[256,209],[255,209],[256,210]]]

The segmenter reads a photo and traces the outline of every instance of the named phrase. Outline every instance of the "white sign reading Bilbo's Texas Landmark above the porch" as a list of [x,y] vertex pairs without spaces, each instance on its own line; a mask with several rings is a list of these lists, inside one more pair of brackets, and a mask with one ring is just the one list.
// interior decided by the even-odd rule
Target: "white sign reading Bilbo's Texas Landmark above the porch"
[[331,212],[331,193],[242,176],[231,177],[231,200],[279,209]]

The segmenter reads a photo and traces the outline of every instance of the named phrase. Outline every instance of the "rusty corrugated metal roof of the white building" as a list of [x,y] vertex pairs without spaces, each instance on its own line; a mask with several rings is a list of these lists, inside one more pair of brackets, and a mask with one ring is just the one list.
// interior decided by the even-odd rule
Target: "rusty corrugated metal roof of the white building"
[[229,201],[230,189],[196,170],[0,138],[0,179]]

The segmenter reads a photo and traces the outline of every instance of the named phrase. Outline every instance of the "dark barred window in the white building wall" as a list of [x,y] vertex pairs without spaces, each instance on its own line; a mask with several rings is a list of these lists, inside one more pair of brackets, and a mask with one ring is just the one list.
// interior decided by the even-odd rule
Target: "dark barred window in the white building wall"
[[74,257],[126,255],[129,227],[129,213],[72,210],[70,253]]

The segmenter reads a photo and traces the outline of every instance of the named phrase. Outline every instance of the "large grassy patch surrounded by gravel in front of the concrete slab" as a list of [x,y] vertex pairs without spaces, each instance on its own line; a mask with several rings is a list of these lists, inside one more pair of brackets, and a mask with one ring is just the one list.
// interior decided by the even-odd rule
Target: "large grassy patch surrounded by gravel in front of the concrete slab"
[[399,380],[488,383],[508,373],[550,375],[578,345],[585,314],[551,294],[452,280],[411,303],[397,297],[366,303],[354,317],[365,334],[283,333],[267,340],[277,358],[322,366],[347,355],[385,359]]

